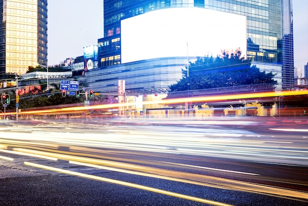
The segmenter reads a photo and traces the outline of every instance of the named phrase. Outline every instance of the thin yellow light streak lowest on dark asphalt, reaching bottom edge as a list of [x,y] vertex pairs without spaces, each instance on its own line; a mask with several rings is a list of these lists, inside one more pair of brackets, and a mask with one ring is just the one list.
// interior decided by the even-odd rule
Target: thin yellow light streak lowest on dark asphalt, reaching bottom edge
[[54,168],[54,167],[48,167],[48,166],[34,164],[34,163],[30,163],[30,162],[24,162],[24,164],[27,165],[27,166],[40,168],[40,169],[44,169],[44,170],[60,172],[60,173],[64,173],[64,174],[79,176],[79,177],[103,181],[103,182],[109,182],[109,183],[113,183],[113,184],[119,184],[119,185],[123,185],[123,186],[147,190],[147,191],[160,193],[160,194],[164,194],[164,195],[169,195],[169,196],[173,196],[173,197],[177,197],[177,198],[191,200],[191,201],[195,201],[195,202],[211,204],[211,205],[214,205],[214,206],[231,206],[231,205],[228,205],[228,204],[223,204],[223,203],[219,203],[219,202],[215,202],[215,201],[211,201],[211,200],[205,200],[205,199],[196,198],[196,197],[192,197],[192,196],[188,196],[188,195],[183,195],[183,194],[179,194],[179,193],[174,193],[174,192],[156,189],[156,188],[153,188],[153,187],[138,185],[138,184],[124,182],[124,181],[115,180],[115,179],[109,179],[109,178],[95,176],[95,175],[91,175],[91,174],[84,174],[84,173],[80,173],[80,172],[72,172],[72,171],[68,171],[68,170],[63,170],[63,169]]

